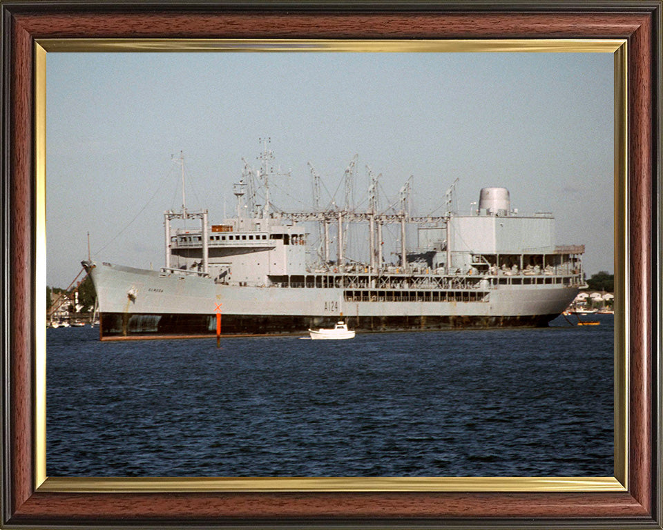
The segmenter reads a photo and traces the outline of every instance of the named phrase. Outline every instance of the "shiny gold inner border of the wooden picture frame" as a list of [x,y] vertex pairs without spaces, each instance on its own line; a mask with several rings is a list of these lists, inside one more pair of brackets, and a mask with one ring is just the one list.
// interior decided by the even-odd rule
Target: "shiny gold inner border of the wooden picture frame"
[[[39,492],[627,491],[628,150],[626,39],[35,40],[35,489]],[[73,478],[46,475],[46,56],[48,52],[606,52],[615,56],[615,476],[381,478]]]

